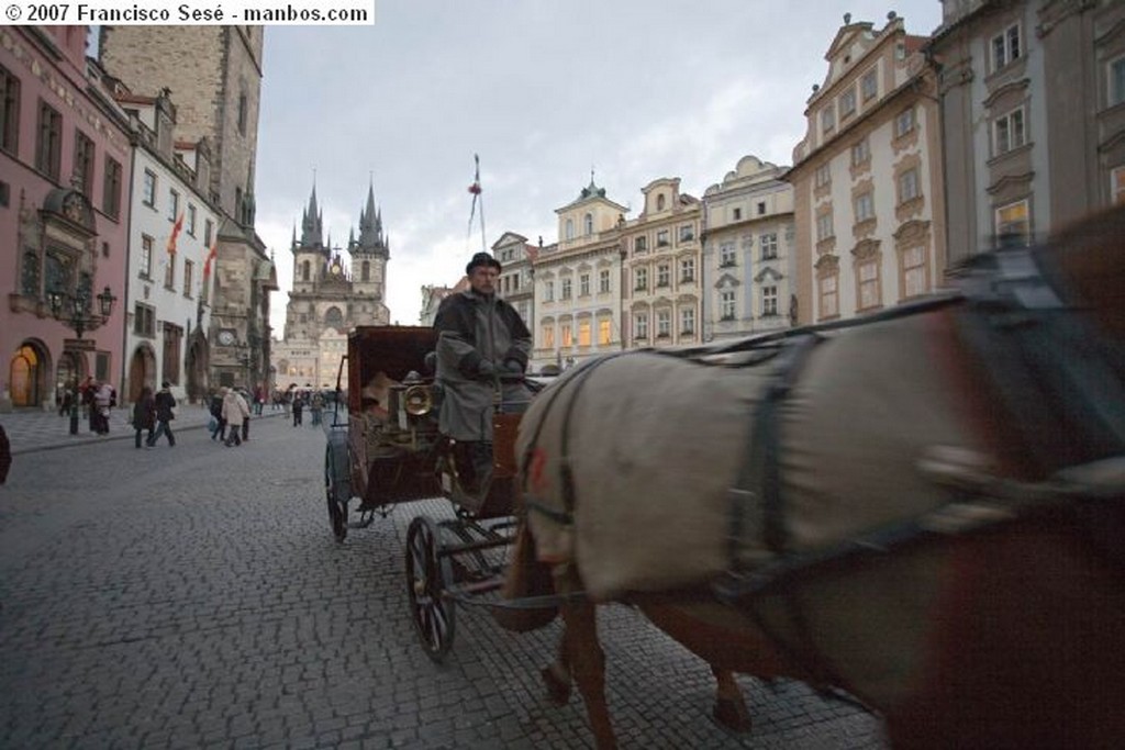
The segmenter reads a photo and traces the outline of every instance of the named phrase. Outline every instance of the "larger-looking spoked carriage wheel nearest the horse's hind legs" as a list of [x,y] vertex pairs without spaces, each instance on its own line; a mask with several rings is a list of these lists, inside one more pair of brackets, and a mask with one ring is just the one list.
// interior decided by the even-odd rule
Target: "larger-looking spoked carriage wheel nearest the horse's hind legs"
[[453,645],[456,608],[443,596],[452,582],[449,558],[441,554],[441,528],[426,516],[411,522],[406,532],[406,587],[414,629],[425,654],[442,662]]

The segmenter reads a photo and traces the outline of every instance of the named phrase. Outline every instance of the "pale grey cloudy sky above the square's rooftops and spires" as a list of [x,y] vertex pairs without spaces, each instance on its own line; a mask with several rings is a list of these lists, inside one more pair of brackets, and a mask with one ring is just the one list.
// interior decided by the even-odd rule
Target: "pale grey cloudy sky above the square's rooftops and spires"
[[681,178],[702,197],[746,154],[792,163],[804,106],[843,24],[928,35],[939,0],[376,0],[368,27],[270,27],[259,123],[258,232],[277,254],[280,336],[314,173],[325,232],[346,245],[368,184],[390,237],[392,322],[472,252],[474,154],[488,245],[557,241],[555,209],[591,180],[612,200]]

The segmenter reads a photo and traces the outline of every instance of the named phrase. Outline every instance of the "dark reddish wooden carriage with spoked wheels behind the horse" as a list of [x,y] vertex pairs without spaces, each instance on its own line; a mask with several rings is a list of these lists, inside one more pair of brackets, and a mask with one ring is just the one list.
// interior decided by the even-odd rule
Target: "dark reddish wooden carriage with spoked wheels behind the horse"
[[452,645],[456,599],[502,586],[503,552],[515,528],[513,445],[526,404],[496,400],[493,466],[480,481],[467,445],[438,430],[442,394],[429,356],[436,341],[433,328],[418,326],[349,334],[346,398],[338,383],[341,397],[325,421],[324,480],[328,522],[341,542],[397,504],[434,497],[452,504],[453,518],[417,516],[406,534],[414,624],[425,652],[440,661]]

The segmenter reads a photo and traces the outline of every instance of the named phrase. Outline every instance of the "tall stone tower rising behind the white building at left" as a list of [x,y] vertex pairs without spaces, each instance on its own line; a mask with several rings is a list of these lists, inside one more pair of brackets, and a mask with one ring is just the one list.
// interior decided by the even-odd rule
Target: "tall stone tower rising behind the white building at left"
[[140,96],[170,89],[180,137],[209,144],[206,189],[222,220],[204,352],[207,387],[254,387],[268,377],[277,273],[254,231],[263,33],[261,26],[102,26],[99,36],[108,74]]

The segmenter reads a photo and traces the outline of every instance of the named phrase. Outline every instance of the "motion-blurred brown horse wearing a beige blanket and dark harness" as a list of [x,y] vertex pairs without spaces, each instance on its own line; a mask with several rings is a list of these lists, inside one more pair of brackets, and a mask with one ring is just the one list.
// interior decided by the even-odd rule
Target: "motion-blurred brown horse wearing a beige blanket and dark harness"
[[[893,747],[1125,737],[1125,208],[858,322],[595,358],[516,441],[505,595],[616,747],[596,607],[734,674],[840,688]],[[530,582],[529,582],[530,581]],[[533,585],[532,585],[533,584]],[[504,623],[502,623],[504,624]]]

